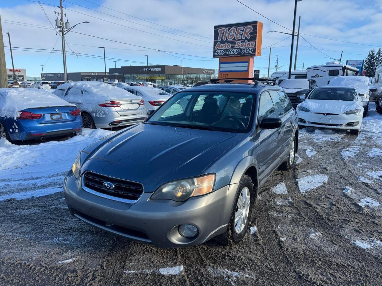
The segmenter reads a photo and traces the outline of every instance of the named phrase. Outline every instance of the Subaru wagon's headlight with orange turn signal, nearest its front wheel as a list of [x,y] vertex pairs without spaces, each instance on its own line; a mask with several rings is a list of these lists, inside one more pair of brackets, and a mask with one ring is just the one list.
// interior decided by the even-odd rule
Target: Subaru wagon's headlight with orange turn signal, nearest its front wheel
[[190,197],[211,193],[214,183],[215,174],[165,183],[152,194],[151,199],[183,202]]

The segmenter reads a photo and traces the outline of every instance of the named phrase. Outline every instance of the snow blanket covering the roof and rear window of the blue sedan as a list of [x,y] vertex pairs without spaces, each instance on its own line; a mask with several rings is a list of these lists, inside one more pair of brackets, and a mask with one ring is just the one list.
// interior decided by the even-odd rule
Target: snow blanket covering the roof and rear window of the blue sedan
[[0,117],[16,119],[20,111],[47,106],[75,106],[38,88],[0,88]]

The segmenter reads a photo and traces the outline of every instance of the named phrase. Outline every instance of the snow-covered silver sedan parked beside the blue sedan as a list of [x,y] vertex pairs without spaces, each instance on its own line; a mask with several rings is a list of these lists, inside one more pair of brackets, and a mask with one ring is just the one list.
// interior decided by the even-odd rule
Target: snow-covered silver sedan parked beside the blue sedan
[[132,125],[147,118],[140,96],[103,82],[68,82],[53,93],[78,106],[85,128]]

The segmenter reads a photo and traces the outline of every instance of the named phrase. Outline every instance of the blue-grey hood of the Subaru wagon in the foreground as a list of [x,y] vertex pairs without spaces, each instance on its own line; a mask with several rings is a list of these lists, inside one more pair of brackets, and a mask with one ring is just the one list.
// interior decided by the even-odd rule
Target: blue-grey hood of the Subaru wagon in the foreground
[[201,175],[243,135],[137,124],[94,144],[81,174],[89,170],[139,182],[145,192],[152,192],[163,183]]

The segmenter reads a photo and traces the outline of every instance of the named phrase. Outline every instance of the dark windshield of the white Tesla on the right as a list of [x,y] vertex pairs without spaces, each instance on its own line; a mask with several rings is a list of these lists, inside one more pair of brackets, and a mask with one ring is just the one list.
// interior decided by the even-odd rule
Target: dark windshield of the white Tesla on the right
[[309,94],[308,99],[356,101],[357,92],[349,88],[316,88]]

